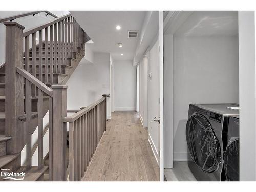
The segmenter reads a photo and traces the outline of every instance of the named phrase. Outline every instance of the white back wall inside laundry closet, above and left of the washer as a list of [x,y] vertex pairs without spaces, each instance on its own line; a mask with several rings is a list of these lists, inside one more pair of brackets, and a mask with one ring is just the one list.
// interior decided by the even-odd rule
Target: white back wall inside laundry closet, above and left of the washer
[[174,35],[174,161],[187,160],[190,103],[239,103],[238,36]]

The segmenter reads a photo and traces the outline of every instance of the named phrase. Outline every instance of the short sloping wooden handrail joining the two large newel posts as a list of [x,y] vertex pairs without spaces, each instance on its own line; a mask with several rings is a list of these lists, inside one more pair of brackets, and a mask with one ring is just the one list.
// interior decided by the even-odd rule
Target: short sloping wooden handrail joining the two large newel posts
[[16,71],[18,74],[22,75],[24,78],[29,80],[32,84],[34,84],[36,87],[38,87],[40,90],[45,92],[50,97],[53,97],[52,89],[46,86],[46,84],[39,81],[37,78],[35,78],[33,75],[31,75],[29,72],[27,72],[25,69],[21,69],[19,67],[16,67]]

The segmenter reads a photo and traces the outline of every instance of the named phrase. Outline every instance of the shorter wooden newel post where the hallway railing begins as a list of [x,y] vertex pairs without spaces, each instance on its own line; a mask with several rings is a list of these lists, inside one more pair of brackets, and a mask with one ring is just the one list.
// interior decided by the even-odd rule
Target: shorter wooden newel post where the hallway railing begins
[[52,85],[53,89],[53,131],[52,131],[52,180],[66,181],[67,127],[63,117],[67,114],[66,85]]

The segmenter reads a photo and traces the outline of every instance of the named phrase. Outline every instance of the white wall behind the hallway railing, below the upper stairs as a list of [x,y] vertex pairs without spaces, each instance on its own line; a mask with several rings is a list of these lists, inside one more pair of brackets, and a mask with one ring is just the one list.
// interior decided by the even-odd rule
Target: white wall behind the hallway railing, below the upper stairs
[[67,109],[80,109],[102,98],[102,94],[109,94],[109,68],[109,53],[94,53],[94,63],[83,58],[67,82]]

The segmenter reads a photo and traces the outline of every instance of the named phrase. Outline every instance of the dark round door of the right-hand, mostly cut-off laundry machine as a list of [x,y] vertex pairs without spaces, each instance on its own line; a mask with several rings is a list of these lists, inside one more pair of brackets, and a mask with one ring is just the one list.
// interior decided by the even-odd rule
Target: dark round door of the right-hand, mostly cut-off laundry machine
[[223,165],[227,181],[239,181],[239,138],[229,140]]

